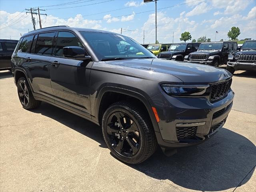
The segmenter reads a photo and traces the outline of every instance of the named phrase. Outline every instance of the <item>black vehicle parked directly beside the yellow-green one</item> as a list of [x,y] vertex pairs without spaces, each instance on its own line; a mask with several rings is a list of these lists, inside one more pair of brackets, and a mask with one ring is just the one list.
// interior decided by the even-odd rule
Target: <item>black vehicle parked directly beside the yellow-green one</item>
[[158,54],[158,58],[183,61],[184,57],[198,49],[201,43],[174,43],[171,44],[168,51]]

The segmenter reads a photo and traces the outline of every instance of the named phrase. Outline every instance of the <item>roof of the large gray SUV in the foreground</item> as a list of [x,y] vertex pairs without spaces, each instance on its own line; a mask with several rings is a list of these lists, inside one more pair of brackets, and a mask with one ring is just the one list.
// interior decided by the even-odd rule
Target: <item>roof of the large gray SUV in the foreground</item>
[[66,26],[66,25],[61,25],[61,26],[52,26],[52,27],[46,27],[46,28],[30,31],[26,34],[23,34],[22,37],[27,36],[27,35],[31,35],[31,34],[35,34],[35,33],[42,33],[42,32],[54,31],[54,30],[70,30],[70,31],[76,31],[76,32],[77,31],[102,32],[102,33],[117,34],[117,33],[114,33],[114,32],[108,32],[108,31],[98,30],[98,29],[76,28],[76,27],[69,27],[69,26]]

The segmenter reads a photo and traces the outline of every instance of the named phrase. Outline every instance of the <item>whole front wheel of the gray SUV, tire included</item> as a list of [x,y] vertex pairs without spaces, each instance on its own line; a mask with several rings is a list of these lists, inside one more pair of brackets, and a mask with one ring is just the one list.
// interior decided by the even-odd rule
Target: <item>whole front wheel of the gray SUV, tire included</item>
[[112,154],[123,162],[139,164],[156,151],[148,114],[129,102],[116,102],[104,112],[102,132]]

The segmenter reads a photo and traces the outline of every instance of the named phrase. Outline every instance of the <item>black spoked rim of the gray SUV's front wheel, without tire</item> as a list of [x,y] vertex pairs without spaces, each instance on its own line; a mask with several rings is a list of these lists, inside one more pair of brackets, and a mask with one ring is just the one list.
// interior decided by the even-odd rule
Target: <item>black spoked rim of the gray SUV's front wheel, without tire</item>
[[124,156],[135,155],[140,148],[138,126],[127,114],[115,112],[107,122],[108,140],[116,152]]

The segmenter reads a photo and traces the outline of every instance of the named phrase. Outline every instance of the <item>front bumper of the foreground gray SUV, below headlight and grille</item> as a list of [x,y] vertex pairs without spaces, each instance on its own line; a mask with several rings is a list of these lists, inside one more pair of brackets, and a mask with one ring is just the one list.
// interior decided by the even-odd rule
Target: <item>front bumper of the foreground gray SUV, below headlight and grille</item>
[[[232,90],[225,98],[214,103],[207,98],[172,97],[164,92],[151,98],[150,102],[156,107],[160,118],[160,132],[156,132],[158,144],[163,148],[180,148],[204,142],[222,128],[232,108],[233,99]],[[200,125],[177,126],[193,123]]]

